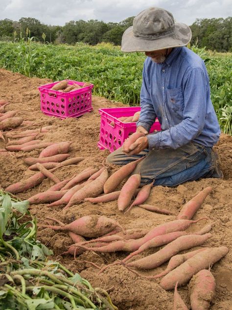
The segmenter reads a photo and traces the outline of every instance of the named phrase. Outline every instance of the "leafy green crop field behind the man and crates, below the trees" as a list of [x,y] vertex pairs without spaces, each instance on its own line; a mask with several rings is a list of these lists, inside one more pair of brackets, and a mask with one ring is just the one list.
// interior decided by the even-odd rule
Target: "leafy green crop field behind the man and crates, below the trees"
[[[211,100],[222,130],[232,134],[232,54],[192,46],[205,61]],[[46,45],[33,38],[0,44],[0,67],[27,77],[72,79],[94,84],[93,94],[138,105],[144,53],[123,53],[111,44]]]

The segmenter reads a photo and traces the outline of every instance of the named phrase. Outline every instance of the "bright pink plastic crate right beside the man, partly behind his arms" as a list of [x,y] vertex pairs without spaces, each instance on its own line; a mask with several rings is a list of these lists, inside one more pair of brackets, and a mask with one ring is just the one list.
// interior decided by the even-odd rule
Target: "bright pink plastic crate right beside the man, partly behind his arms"
[[[116,107],[99,109],[101,114],[100,136],[97,146],[99,149],[108,149],[114,152],[122,146],[124,140],[134,132],[136,132],[136,123],[122,123],[117,118],[122,116],[132,116],[140,111],[139,106],[135,107]],[[115,125],[111,124],[114,123]],[[156,119],[152,125],[150,132],[161,130],[161,125]]]

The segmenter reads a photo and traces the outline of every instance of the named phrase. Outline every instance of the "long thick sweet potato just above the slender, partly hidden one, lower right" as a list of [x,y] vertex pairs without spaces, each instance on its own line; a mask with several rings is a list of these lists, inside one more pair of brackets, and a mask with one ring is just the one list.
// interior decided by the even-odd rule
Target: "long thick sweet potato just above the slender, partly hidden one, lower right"
[[145,258],[129,262],[127,263],[127,266],[146,270],[156,268],[178,252],[201,245],[209,237],[211,237],[211,233],[206,233],[204,235],[189,234],[181,236],[167,244],[160,251]]

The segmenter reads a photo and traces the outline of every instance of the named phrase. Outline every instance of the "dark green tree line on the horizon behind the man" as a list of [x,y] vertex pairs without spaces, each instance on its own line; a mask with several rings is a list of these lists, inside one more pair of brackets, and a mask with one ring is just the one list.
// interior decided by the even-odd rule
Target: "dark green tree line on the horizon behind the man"
[[[10,19],[0,20],[0,40],[19,41],[34,38],[35,41],[53,44],[75,44],[83,42],[96,45],[101,42],[121,44],[123,32],[133,24],[133,17],[120,23],[104,23],[98,20],[70,21],[65,26],[51,26],[35,18],[22,17],[18,22]],[[217,52],[232,52],[232,17],[196,19],[190,26],[192,30],[191,45],[197,44]]]

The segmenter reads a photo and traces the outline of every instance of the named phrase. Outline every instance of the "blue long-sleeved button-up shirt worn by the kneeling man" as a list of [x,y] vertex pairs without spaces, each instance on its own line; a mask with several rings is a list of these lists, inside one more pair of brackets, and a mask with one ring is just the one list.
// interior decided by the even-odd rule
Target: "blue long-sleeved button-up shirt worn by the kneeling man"
[[162,131],[149,134],[149,149],[177,149],[188,142],[212,147],[220,127],[210,100],[204,61],[191,50],[174,48],[165,62],[147,57],[142,73],[137,126],[150,130],[156,117]]

